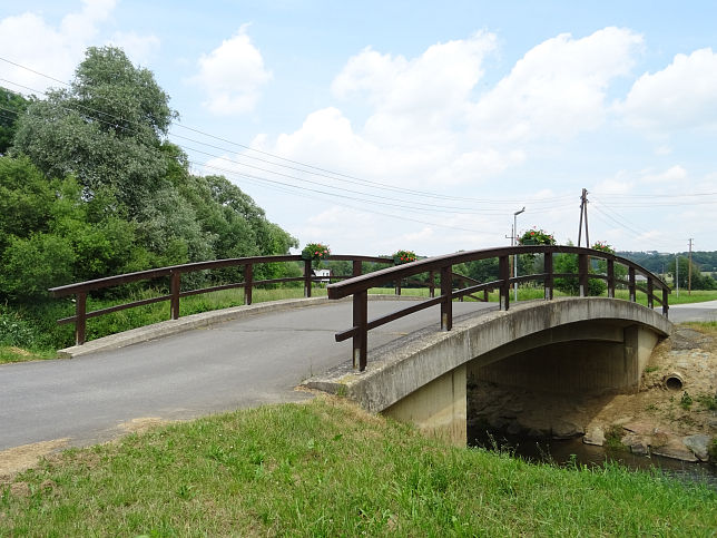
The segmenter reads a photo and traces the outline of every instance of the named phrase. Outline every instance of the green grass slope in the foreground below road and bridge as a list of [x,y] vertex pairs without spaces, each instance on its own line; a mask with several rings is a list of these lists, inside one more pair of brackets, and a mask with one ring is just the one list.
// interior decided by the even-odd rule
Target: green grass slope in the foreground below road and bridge
[[70,450],[0,482],[0,536],[708,536],[717,492],[454,448],[341,399]]

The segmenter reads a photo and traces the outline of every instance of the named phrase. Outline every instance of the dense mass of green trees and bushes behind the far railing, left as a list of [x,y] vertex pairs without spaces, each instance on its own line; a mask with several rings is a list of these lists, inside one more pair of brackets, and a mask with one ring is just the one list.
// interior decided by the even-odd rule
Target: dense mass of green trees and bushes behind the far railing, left
[[[297,246],[226,177],[190,172],[167,138],[177,117],[151,71],[115,47],[89,48],[43,99],[0,88],[0,345],[51,309],[48,287]],[[229,273],[183,286],[239,278]],[[255,278],[298,273],[266,264]]]

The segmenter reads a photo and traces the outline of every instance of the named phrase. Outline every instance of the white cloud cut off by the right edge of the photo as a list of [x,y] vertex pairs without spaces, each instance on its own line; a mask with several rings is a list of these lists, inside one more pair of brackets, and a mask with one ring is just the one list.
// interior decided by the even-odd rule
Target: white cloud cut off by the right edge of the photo
[[646,130],[717,127],[717,53],[675,56],[661,71],[642,75],[616,109]]

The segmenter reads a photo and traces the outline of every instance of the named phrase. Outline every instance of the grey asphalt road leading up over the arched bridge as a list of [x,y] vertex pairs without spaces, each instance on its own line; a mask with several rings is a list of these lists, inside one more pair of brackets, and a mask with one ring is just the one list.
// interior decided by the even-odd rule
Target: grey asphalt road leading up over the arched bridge
[[[404,302],[403,305],[406,303]],[[454,315],[495,309],[454,303]],[[369,319],[399,310],[371,301]],[[69,438],[111,439],[132,419],[188,419],[264,403],[298,401],[304,379],[351,360],[351,303],[294,309],[72,360],[0,365],[0,450]],[[439,307],[369,333],[370,349],[429,325]]]

